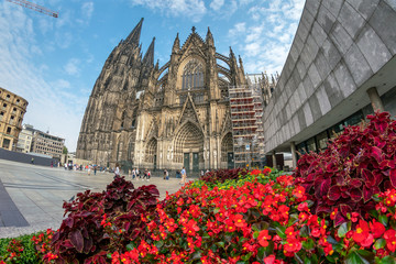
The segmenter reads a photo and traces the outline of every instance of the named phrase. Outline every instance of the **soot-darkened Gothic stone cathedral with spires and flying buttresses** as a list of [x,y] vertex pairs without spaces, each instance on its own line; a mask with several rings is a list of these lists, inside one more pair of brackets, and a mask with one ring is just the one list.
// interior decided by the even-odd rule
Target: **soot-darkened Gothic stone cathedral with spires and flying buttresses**
[[241,58],[216,52],[208,28],[195,28],[170,59],[154,64],[154,42],[144,56],[143,19],[105,63],[89,97],[77,157],[102,166],[200,170],[233,167],[230,86],[244,86]]

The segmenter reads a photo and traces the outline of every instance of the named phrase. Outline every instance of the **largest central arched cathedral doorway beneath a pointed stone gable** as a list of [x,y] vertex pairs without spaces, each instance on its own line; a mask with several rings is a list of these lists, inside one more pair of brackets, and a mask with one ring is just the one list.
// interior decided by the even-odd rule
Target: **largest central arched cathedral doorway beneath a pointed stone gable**
[[173,162],[189,172],[204,168],[204,134],[193,122],[185,123],[174,139]]

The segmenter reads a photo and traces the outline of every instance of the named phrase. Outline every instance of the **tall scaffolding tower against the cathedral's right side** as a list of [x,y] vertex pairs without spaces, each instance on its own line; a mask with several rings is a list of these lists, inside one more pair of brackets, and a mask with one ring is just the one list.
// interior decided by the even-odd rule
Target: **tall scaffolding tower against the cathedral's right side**
[[235,167],[255,167],[264,160],[263,94],[260,85],[229,87]]

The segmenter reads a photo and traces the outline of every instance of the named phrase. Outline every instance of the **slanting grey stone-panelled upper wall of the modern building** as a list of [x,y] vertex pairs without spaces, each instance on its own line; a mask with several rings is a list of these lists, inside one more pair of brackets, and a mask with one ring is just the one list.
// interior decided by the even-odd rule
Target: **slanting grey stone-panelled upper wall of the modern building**
[[[381,84],[373,76],[388,74],[394,82],[394,68],[384,66],[395,62],[395,0],[307,0],[264,111],[265,152],[311,136],[370,103],[367,85]],[[394,86],[381,84],[378,91]]]

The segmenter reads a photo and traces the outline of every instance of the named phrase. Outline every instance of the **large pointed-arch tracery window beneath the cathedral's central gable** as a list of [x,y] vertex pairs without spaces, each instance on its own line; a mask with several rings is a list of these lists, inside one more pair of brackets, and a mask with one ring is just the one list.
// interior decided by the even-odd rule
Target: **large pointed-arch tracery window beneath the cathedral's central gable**
[[204,87],[204,67],[197,59],[191,59],[184,68],[182,89]]

